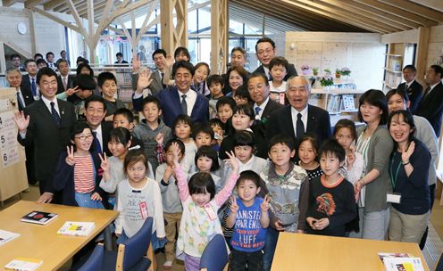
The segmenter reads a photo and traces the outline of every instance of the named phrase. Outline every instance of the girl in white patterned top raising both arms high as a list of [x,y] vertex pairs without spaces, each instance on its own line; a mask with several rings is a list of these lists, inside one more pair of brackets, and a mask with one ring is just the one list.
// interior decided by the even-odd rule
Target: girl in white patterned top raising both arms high
[[200,258],[207,243],[215,234],[222,234],[217,209],[232,193],[238,179],[238,163],[234,154],[228,153],[229,164],[233,170],[221,192],[215,193],[213,177],[207,172],[197,172],[187,183],[179,163],[179,148],[177,144],[174,145],[174,171],[178,180],[180,201],[183,204],[177,242],[178,255],[184,253],[186,270],[200,270]]

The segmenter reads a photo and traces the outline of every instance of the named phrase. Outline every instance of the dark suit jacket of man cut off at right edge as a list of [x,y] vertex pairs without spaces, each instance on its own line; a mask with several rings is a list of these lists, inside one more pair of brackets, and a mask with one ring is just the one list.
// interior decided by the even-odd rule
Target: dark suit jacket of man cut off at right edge
[[440,136],[441,131],[441,115],[443,113],[443,83],[439,82],[434,86],[430,94],[422,98],[422,102],[418,105],[415,115],[428,119],[435,135]]

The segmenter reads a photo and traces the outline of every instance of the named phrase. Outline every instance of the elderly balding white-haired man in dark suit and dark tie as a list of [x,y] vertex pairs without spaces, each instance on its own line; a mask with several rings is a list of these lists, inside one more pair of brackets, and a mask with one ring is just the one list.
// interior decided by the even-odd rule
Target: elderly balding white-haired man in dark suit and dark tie
[[297,142],[305,133],[313,133],[321,145],[331,136],[330,114],[319,107],[307,104],[311,94],[311,84],[306,78],[290,78],[287,84],[286,95],[289,104],[272,112],[267,126],[269,138],[283,134],[291,136],[294,142]]

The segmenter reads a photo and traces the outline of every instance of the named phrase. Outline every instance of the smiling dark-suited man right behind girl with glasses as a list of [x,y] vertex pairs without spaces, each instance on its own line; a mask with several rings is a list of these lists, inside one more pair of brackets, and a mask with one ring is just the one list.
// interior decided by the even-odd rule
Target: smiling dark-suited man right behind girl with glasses
[[103,97],[92,95],[85,102],[85,117],[88,126],[92,129],[94,135],[94,153],[106,152],[108,156],[112,156],[108,149],[109,133],[113,129],[113,123],[104,121],[106,116],[106,104]]

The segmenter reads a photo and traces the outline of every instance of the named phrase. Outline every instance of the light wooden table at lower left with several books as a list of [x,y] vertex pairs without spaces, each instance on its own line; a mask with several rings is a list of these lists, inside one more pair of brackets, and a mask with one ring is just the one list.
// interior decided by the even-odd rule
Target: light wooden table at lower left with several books
[[[47,225],[21,222],[21,217],[32,210],[53,212],[58,217]],[[17,257],[42,259],[38,270],[57,270],[72,258],[117,218],[118,212],[104,209],[86,209],[56,204],[37,204],[19,201],[0,211],[0,229],[21,234],[0,247],[0,269]],[[65,221],[95,222],[96,227],[88,237],[57,235]]]

